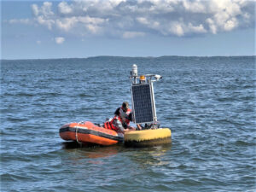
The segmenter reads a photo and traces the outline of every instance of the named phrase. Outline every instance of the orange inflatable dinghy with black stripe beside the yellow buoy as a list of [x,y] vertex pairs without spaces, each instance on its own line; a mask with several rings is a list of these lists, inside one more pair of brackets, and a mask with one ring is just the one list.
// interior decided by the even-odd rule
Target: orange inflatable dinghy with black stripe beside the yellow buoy
[[60,137],[67,141],[100,145],[113,145],[124,141],[123,134],[94,125],[90,121],[61,126]]

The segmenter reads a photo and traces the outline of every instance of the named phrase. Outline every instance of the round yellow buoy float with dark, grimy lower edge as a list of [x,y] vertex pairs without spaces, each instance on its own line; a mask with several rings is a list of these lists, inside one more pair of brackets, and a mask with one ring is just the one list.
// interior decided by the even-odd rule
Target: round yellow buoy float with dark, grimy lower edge
[[169,128],[155,130],[128,131],[125,132],[125,146],[148,147],[159,144],[171,143],[172,132]]

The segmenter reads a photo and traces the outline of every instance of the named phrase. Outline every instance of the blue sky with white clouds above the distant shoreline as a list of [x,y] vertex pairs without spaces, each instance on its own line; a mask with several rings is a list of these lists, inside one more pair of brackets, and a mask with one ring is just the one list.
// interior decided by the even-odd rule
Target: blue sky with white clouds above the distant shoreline
[[255,55],[248,0],[1,1],[1,59]]

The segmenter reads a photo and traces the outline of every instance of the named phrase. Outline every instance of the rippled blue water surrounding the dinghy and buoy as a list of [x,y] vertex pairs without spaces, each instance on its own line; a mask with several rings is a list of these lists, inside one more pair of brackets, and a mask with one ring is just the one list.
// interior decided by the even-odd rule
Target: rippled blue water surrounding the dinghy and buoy
[[[157,73],[172,145],[79,148],[69,122],[131,103],[129,75]],[[1,61],[1,191],[255,191],[255,57]]]

